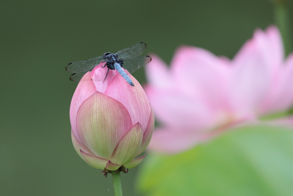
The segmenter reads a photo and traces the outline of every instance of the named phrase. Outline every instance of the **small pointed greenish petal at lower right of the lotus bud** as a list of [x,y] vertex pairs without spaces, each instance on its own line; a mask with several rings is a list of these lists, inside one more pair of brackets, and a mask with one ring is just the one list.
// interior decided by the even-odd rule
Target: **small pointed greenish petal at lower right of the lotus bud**
[[139,123],[136,123],[127,130],[113,152],[112,162],[121,165],[129,163],[135,157],[142,144],[143,134],[142,126]]

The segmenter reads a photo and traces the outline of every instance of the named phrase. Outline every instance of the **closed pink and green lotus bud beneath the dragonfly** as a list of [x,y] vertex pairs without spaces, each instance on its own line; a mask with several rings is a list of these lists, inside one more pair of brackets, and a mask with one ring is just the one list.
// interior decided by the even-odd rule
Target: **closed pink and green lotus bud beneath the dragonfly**
[[[120,74],[93,81],[98,70],[79,82],[70,105],[71,137],[76,152],[90,166],[108,170],[136,167],[134,159],[149,144],[154,114],[138,81],[130,86]],[[103,170],[104,171],[104,170]],[[107,172],[103,173],[105,176]]]

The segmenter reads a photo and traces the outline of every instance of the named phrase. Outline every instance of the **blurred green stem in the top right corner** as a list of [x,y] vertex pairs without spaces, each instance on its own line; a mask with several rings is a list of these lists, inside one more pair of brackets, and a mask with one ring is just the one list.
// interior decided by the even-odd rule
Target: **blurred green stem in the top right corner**
[[286,0],[275,0],[274,18],[276,25],[281,31],[285,47],[285,55],[287,56],[291,52],[291,39],[289,28],[289,14]]

